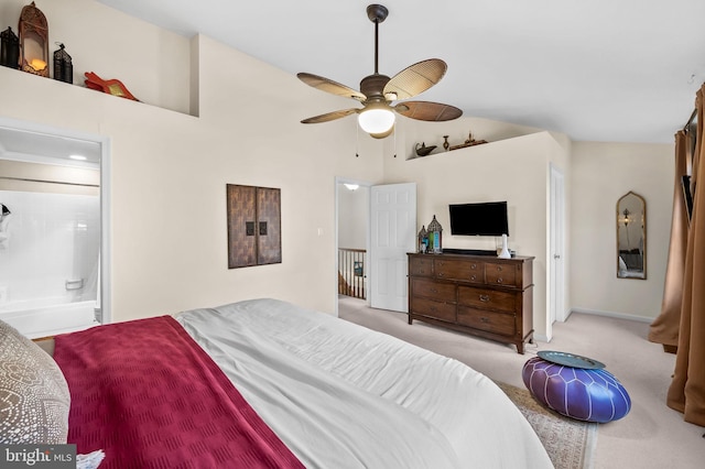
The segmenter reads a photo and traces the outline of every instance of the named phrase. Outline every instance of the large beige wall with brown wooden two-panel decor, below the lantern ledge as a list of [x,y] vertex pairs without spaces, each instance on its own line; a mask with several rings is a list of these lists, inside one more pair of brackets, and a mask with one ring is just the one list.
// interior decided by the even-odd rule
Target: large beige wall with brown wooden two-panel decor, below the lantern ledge
[[[119,35],[113,45],[135,36],[140,44],[130,47],[140,53],[118,55],[105,77],[124,78],[149,103],[0,67],[3,118],[109,138],[113,319],[259,296],[334,312],[335,176],[382,177],[381,143],[364,137],[355,157],[351,121],[299,123],[321,108],[339,107],[340,98],[206,37],[189,42],[87,0],[48,4],[53,10],[43,11],[55,34],[50,41],[68,30],[102,32],[77,37],[82,53],[64,40],[78,73],[99,73],[97,64],[110,50],[104,37]],[[19,9],[8,15],[8,7],[2,3],[0,23],[14,24]],[[144,57],[178,50],[176,62],[183,64],[183,51],[192,47],[198,56],[191,62],[200,64],[194,94],[199,117],[152,106],[156,95],[140,84],[159,67]],[[182,94],[188,101],[187,87]],[[281,264],[227,269],[228,183],[281,188]]]

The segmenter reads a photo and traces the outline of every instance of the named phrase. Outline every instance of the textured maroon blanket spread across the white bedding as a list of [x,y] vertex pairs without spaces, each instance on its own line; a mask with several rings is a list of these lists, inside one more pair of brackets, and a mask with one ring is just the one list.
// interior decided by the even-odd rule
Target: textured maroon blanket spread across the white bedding
[[170,316],[56,337],[68,443],[100,468],[303,468]]

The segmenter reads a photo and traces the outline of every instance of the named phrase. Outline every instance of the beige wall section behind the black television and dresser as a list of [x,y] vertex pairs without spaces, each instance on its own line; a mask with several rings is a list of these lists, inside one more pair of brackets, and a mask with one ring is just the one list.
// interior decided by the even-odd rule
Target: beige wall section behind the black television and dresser
[[[467,124],[467,122],[465,122]],[[405,127],[410,127],[406,124]],[[481,139],[477,137],[477,139]],[[414,137],[399,139],[401,154],[413,149]],[[388,144],[387,151],[393,152]],[[534,329],[551,337],[546,317],[549,164],[567,164],[567,153],[549,132],[507,138],[486,144],[405,160],[384,156],[387,183],[417,184],[417,220],[429,225],[433,216],[444,227],[443,247],[496,249],[490,237],[451,236],[448,204],[507,200],[509,247],[520,255],[533,255]]]

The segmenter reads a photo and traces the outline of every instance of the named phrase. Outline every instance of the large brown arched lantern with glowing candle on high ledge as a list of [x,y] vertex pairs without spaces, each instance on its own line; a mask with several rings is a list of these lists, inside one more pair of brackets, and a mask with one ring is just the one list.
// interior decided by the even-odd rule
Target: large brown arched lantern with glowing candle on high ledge
[[33,75],[48,77],[48,23],[34,2],[22,9],[19,29],[20,67]]

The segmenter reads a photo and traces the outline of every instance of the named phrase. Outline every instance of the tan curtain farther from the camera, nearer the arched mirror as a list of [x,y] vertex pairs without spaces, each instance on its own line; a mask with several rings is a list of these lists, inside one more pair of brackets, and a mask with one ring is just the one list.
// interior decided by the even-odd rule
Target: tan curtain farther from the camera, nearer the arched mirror
[[681,327],[683,299],[683,275],[685,273],[685,249],[687,247],[687,209],[683,197],[682,177],[687,174],[688,135],[684,131],[675,134],[675,184],[673,189],[673,217],[671,219],[671,246],[665,268],[665,284],[661,314],[651,324],[649,340],[675,349]]

